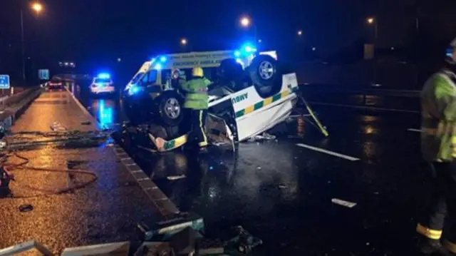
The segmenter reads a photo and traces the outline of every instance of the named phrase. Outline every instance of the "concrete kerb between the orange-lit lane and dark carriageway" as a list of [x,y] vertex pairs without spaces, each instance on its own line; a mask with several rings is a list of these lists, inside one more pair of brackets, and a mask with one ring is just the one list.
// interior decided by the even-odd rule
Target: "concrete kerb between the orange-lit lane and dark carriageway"
[[[85,115],[90,118],[90,121],[97,123],[98,127],[101,127],[100,123],[94,116],[90,114],[90,112],[83,106],[78,98],[76,98],[70,91],[68,91],[68,93],[70,93],[73,101],[75,101],[79,108],[81,108],[81,111],[83,111],[83,113],[85,113]],[[142,191],[152,201],[164,220],[175,217],[180,213],[180,210],[174,203],[172,203],[170,198],[168,198],[165,193],[163,193],[162,190],[160,190],[160,188],[155,185],[150,177],[145,175],[138,164],[135,163],[132,158],[130,158],[130,155],[128,155],[128,153],[126,153],[120,145],[116,144],[115,147],[113,147],[113,153],[115,153],[115,155],[120,160],[120,163],[122,163],[122,165],[126,168],[126,170],[128,170],[133,178],[135,178],[136,182],[138,182],[142,188]]]

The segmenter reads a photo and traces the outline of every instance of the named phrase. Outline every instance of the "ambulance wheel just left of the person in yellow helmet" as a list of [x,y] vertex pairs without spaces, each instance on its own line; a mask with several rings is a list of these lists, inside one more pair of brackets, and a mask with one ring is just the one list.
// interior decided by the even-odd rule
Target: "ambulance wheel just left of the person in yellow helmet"
[[177,93],[164,93],[160,98],[158,112],[167,126],[178,126],[184,118],[182,99]]

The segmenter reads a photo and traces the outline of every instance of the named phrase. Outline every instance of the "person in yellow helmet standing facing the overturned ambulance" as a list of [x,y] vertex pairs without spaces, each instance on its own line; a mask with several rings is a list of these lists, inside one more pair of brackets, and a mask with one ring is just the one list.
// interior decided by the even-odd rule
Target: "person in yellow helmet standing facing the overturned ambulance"
[[204,78],[202,68],[195,67],[192,70],[192,79],[182,84],[182,89],[187,92],[184,108],[190,110],[191,131],[190,140],[197,139],[199,148],[205,150],[207,147],[207,135],[204,131],[207,116],[207,86],[211,83]]

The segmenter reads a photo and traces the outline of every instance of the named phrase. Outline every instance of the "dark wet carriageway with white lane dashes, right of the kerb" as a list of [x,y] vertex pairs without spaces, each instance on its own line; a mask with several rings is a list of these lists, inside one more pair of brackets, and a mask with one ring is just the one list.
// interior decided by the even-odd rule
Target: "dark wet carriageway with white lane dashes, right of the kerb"
[[[115,98],[78,97],[101,123],[125,118]],[[242,225],[264,240],[258,255],[413,255],[426,185],[413,131],[419,116],[314,110],[328,138],[309,121],[291,120],[271,131],[276,140],[241,143],[234,154],[129,152],[181,210],[204,217],[208,237],[227,238],[230,227]],[[174,180],[179,175],[187,178]],[[345,208],[333,198],[357,205]]]

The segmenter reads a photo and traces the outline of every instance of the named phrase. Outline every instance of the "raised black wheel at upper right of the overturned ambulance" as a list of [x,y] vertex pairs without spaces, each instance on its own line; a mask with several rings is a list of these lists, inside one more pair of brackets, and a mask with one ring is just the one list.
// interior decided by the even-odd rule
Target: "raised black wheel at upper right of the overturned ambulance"
[[282,73],[274,58],[269,55],[259,55],[254,58],[247,71],[261,97],[267,98],[279,93],[282,86]]

